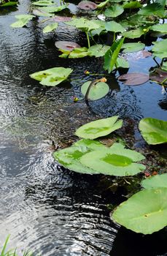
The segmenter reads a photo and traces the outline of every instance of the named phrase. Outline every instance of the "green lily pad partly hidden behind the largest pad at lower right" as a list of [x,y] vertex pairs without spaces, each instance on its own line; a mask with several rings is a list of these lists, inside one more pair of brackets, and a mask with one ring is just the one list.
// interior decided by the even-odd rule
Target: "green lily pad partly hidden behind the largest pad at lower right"
[[167,173],[146,178],[141,182],[141,186],[144,187],[144,189],[155,189],[157,187],[167,188]]

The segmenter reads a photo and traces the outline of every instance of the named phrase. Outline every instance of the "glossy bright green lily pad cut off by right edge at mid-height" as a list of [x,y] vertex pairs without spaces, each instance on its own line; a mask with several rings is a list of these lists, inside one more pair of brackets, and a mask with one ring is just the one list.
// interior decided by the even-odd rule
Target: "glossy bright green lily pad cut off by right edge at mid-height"
[[139,130],[148,144],[167,143],[167,121],[143,118],[139,122]]

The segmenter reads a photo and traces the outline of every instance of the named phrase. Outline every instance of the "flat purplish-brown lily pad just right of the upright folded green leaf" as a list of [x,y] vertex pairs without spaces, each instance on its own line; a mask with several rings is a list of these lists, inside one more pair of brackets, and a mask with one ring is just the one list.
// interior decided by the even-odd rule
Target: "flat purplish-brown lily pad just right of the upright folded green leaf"
[[123,81],[126,86],[138,86],[142,83],[146,83],[149,80],[149,75],[143,73],[129,73],[120,75],[118,80]]

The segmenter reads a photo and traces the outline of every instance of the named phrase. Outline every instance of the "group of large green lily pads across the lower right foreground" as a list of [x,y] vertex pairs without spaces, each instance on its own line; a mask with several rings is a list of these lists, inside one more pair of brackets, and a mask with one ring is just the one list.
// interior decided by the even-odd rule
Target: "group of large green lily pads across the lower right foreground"
[[[79,127],[78,140],[69,148],[55,151],[55,160],[77,173],[104,174],[109,176],[133,176],[145,170],[139,163],[145,157],[125,148],[122,143],[106,146],[97,138],[109,135],[122,127],[118,116],[99,119]],[[143,118],[139,122],[141,135],[147,143],[167,143],[167,121]],[[144,190],[120,204],[112,219],[137,232],[150,234],[167,225],[167,173],[142,181]],[[152,225],[154,223],[154,225]]]

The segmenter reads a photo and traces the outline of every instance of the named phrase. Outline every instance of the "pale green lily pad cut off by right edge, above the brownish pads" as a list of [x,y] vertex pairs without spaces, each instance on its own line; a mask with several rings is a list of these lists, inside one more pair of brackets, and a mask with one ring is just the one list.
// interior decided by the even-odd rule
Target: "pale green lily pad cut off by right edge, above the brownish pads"
[[152,43],[154,44],[152,47],[153,55],[160,59],[167,58],[167,39]]

